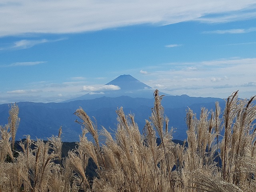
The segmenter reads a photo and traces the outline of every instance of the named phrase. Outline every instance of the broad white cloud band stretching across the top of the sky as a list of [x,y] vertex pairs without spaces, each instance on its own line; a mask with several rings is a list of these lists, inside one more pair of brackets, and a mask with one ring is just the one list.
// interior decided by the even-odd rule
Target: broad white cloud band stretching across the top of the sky
[[[12,3],[6,1],[4,4],[0,6],[0,36],[77,33],[134,24],[166,25],[189,20],[230,22],[256,18],[256,12],[252,9],[255,0],[13,0]],[[19,42],[17,46],[22,47],[24,43]]]

